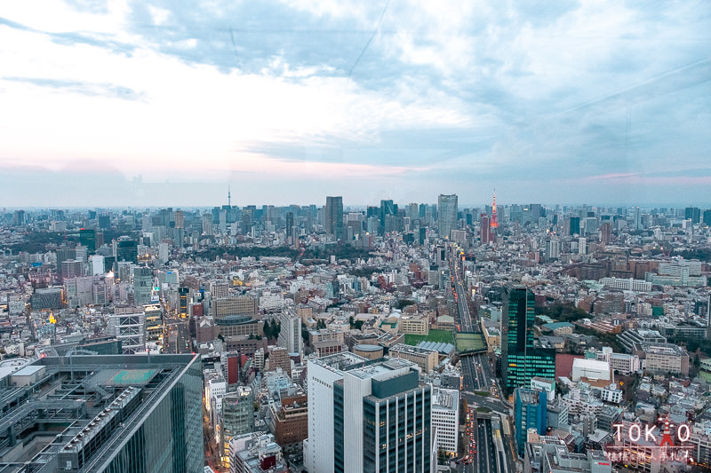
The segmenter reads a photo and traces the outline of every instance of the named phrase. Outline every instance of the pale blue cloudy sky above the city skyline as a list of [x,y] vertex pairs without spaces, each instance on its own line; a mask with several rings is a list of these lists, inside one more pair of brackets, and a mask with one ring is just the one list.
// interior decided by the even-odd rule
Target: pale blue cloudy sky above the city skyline
[[711,2],[5,0],[0,208],[711,205]]

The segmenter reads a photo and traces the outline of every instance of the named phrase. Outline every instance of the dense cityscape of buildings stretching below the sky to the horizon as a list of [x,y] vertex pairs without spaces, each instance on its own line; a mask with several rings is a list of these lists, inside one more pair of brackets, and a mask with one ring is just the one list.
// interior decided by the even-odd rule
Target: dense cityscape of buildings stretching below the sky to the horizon
[[232,197],[2,209],[0,473],[711,465],[711,209]]

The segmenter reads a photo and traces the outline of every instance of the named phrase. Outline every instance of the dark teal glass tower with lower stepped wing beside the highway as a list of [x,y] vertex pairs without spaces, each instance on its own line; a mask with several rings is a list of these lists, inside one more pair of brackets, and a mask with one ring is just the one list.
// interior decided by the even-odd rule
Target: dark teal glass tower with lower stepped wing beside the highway
[[501,374],[508,394],[529,386],[533,376],[555,379],[555,347],[533,338],[535,296],[507,285],[501,311]]

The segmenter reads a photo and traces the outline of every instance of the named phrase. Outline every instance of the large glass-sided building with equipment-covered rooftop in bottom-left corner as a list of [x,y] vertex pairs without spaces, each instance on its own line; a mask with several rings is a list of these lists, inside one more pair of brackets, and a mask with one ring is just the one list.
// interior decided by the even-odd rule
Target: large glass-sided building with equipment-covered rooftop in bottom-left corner
[[200,355],[46,357],[9,376],[23,399],[0,401],[11,471],[203,472]]

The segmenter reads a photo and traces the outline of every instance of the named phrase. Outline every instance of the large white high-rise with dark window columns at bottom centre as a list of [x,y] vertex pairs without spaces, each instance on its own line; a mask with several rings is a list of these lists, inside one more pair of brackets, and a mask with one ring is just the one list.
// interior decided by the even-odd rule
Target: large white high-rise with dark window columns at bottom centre
[[338,353],[308,362],[308,439],[313,473],[428,472],[432,388],[404,359]]

